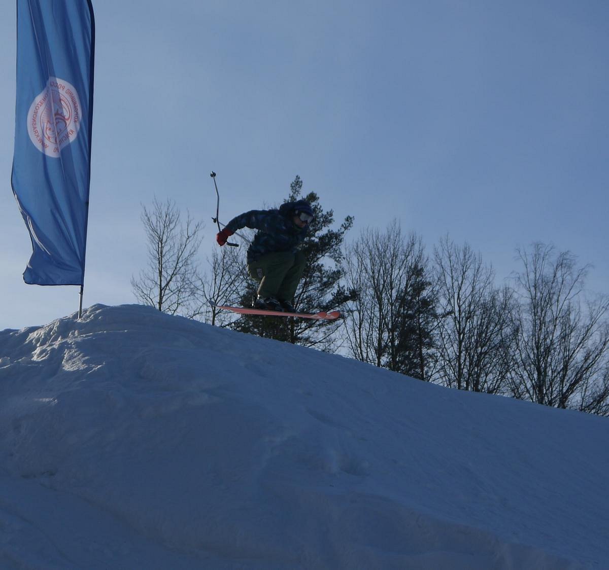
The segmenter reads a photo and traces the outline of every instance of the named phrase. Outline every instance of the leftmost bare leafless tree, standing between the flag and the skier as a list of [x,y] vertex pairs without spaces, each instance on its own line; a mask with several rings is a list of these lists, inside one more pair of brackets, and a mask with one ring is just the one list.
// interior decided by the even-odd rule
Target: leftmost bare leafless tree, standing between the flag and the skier
[[143,206],[141,215],[147,238],[145,269],[132,277],[133,293],[139,301],[170,315],[192,316],[199,280],[196,255],[202,223],[190,215],[186,224],[173,200],[160,203],[154,198],[152,209]]

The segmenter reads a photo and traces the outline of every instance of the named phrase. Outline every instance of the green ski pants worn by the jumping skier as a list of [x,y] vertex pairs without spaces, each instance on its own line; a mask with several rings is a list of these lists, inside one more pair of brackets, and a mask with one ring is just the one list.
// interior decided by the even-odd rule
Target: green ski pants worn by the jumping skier
[[301,251],[295,254],[276,251],[248,263],[247,270],[252,279],[260,282],[258,296],[275,297],[291,303],[305,265],[306,257]]

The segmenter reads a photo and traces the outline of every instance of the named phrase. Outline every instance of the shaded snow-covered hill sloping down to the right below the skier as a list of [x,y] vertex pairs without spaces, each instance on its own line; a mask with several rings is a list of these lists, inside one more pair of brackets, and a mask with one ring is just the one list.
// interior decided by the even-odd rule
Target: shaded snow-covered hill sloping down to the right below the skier
[[609,421],[138,305],[0,332],[0,568],[609,568]]

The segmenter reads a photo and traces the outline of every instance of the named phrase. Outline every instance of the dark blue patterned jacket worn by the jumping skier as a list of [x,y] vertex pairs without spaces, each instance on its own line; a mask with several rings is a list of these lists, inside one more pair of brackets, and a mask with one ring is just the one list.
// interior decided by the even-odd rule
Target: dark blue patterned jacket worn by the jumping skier
[[226,227],[233,232],[241,228],[258,230],[252,245],[247,249],[247,263],[255,262],[262,255],[275,251],[297,251],[309,228],[298,228],[294,223],[293,204],[281,204],[278,210],[250,210],[228,222]]

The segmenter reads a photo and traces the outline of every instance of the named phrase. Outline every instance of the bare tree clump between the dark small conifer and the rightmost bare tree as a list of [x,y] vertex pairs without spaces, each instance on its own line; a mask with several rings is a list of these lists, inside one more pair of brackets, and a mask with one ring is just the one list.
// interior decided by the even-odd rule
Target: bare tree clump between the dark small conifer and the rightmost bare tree
[[495,393],[504,383],[502,342],[508,290],[493,284],[493,269],[468,244],[448,236],[434,249],[438,287],[438,380],[462,390]]

